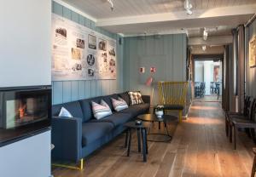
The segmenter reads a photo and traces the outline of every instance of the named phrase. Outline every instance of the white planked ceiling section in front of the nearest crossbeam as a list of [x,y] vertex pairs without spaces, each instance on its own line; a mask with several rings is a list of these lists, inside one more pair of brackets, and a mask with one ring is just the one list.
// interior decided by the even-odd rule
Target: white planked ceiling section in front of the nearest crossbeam
[[[108,19],[143,14],[161,14],[183,10],[183,0],[113,0],[110,10],[107,0],[63,0],[96,19]],[[191,0],[194,10],[240,6],[255,0]]]

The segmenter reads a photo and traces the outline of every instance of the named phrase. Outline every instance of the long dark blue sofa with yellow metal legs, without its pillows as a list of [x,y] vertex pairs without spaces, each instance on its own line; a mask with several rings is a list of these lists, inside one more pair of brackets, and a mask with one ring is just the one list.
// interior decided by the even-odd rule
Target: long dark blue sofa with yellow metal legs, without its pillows
[[[78,162],[121,134],[125,130],[124,123],[149,111],[150,97],[143,95],[144,104],[116,112],[111,98],[118,97],[130,104],[129,95],[125,92],[52,106],[52,144],[55,146],[52,151],[53,160]],[[113,115],[96,120],[91,110],[91,101],[100,103],[101,100],[108,103]],[[58,117],[62,106],[70,111],[72,118]]]

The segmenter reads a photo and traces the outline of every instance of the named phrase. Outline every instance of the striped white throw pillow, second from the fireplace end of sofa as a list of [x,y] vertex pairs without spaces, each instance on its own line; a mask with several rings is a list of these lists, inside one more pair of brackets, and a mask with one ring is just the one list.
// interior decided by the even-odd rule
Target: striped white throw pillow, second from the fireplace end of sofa
[[93,101],[91,101],[91,104],[94,117],[96,117],[97,120],[112,115],[110,107],[104,100],[101,101],[101,105]]

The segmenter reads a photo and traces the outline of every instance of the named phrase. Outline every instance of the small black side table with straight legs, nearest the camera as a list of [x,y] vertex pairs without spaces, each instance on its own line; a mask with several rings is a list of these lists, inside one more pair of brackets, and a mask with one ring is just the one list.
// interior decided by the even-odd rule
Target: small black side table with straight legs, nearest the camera
[[127,127],[126,135],[125,135],[125,148],[127,147],[128,142],[128,150],[127,157],[130,156],[131,150],[131,130],[137,129],[137,150],[141,152],[141,139],[143,140],[143,162],[147,162],[147,154],[148,154],[148,140],[147,140],[147,127],[145,123],[141,125],[136,125],[135,122],[129,122],[124,124]]

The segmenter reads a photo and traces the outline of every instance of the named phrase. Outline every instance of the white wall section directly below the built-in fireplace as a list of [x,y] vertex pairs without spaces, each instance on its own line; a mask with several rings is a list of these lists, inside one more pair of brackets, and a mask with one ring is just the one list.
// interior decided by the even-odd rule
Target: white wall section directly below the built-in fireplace
[[50,131],[0,147],[0,176],[49,177]]

